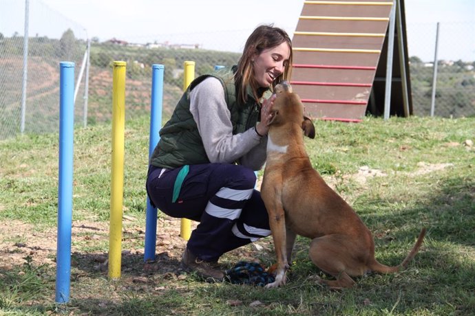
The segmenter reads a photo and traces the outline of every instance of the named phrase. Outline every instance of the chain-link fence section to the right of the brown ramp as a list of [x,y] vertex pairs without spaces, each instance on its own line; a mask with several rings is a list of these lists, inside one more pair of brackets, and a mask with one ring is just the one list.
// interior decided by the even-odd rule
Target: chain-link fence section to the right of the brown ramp
[[474,116],[475,23],[439,23],[439,35],[437,29],[437,23],[407,25],[408,42],[416,43],[408,46],[414,115],[430,115],[434,102],[435,116]]

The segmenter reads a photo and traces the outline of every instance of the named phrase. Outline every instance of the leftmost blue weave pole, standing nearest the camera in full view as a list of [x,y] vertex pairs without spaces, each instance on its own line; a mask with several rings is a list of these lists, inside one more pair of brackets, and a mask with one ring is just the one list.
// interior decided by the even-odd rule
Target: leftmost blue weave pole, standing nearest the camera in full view
[[72,175],[74,133],[74,63],[59,63],[58,240],[56,303],[70,300]]

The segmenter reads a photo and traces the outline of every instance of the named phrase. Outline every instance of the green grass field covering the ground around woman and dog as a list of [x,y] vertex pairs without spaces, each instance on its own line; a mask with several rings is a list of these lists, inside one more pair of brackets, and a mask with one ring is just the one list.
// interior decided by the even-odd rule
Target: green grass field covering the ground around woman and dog
[[[45,245],[56,238],[58,135],[0,142],[0,224],[30,229],[11,236],[0,232],[0,258],[19,256],[8,267],[0,260],[0,314],[475,314],[475,148],[464,145],[475,138],[475,118],[367,117],[359,124],[317,121],[315,126],[317,137],[306,140],[313,165],[372,230],[380,262],[399,264],[427,227],[423,249],[408,270],[367,275],[353,289],[328,291],[313,282],[320,272],[308,259],[309,240],[299,238],[283,288],[206,284],[176,273],[184,242],[167,233],[178,220],[162,215],[158,259],[144,264],[149,121],[137,117],[126,122],[125,131],[127,251],[119,280],[109,280],[105,264],[111,126],[75,129],[73,227],[79,231],[72,240],[71,300],[61,306],[54,303],[54,247],[45,255],[50,262],[34,260],[43,249],[24,251],[32,236]],[[362,170],[370,170],[363,181]],[[160,243],[166,239],[176,245]],[[242,258],[275,262],[271,239],[256,243],[261,250],[242,247],[223,256],[222,264],[231,267]]]

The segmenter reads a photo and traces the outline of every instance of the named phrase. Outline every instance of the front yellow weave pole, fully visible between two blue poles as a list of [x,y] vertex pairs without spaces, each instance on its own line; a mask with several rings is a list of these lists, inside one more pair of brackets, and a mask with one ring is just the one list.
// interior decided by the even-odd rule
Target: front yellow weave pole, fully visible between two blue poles
[[114,61],[112,79],[112,172],[109,227],[109,278],[120,278],[124,196],[125,61]]

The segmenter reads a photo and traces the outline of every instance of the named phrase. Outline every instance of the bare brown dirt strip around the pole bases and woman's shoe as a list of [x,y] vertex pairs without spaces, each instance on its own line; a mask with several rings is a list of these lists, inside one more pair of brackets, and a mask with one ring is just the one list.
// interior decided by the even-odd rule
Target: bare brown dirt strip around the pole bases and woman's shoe
[[[125,283],[144,283],[149,278],[185,278],[180,276],[180,260],[187,241],[180,236],[180,219],[159,213],[156,237],[156,260],[144,262],[145,225],[136,218],[124,216],[121,273]],[[191,222],[191,230],[197,223]],[[35,229],[34,225],[11,221],[0,223],[0,271],[21,268],[23,264],[39,267],[47,264],[56,269],[56,227]],[[74,278],[85,275],[107,275],[109,223],[74,221],[72,224],[71,267]],[[271,251],[271,239],[264,238],[252,245],[226,253],[221,263],[231,267],[238,260],[257,260],[257,251]],[[89,274],[88,274],[89,273]],[[92,274],[91,274],[92,273]]]

